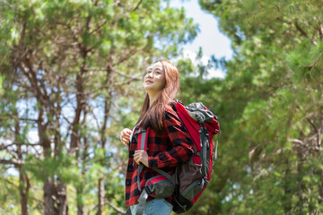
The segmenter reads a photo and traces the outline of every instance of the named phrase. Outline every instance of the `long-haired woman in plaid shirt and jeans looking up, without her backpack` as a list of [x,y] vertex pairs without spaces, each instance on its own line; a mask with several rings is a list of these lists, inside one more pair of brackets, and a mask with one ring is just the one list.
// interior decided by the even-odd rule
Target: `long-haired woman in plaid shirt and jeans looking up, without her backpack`
[[[167,60],[154,62],[144,76],[144,90],[147,92],[144,105],[133,136],[132,131],[125,128],[120,133],[120,140],[128,146],[129,158],[126,176],[126,206],[135,214],[140,191],[146,181],[159,174],[153,168],[161,168],[166,172],[174,171],[180,162],[185,162],[193,154],[193,142],[188,131],[179,120],[171,103],[179,91],[179,72]],[[147,151],[137,150],[135,132],[139,128],[150,128],[148,132]],[[144,164],[140,174],[140,188],[136,176],[138,165]],[[144,214],[167,215],[172,211],[172,198],[148,198]]]

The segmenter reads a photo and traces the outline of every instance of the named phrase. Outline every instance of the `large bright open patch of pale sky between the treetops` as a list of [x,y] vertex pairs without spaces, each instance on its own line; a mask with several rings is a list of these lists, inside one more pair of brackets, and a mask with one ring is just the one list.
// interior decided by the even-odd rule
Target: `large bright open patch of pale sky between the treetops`
[[[216,58],[225,57],[230,59],[232,56],[231,41],[218,29],[218,22],[214,15],[201,10],[197,0],[170,0],[171,7],[181,8],[186,10],[187,17],[193,18],[194,22],[199,24],[200,32],[197,34],[193,42],[184,46],[184,57],[188,57],[195,62],[196,53],[199,47],[202,47],[204,56],[202,62],[207,64],[211,56]],[[210,70],[209,78],[217,77],[224,78],[225,73],[218,70]]]

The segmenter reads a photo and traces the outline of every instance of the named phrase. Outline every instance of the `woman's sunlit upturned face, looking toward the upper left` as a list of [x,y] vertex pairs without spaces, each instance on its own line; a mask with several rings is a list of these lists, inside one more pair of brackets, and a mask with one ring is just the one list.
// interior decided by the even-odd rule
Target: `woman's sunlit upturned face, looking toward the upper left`
[[144,90],[150,93],[159,93],[166,86],[165,71],[162,69],[162,63],[157,62],[148,67],[144,75]]

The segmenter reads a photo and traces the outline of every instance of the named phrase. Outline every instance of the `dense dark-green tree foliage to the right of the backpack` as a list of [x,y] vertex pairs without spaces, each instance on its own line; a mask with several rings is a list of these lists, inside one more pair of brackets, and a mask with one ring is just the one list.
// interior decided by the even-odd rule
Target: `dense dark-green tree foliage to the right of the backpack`
[[322,3],[199,3],[234,51],[218,92],[225,146],[214,168],[216,203],[205,211],[321,212]]

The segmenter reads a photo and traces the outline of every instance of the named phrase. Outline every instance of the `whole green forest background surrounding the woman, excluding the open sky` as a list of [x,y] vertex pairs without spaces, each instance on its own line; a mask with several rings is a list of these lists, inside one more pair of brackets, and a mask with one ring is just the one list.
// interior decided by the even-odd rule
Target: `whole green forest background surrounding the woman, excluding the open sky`
[[[182,59],[198,26],[168,2],[0,1],[1,214],[123,213],[118,134],[160,56],[176,59],[179,99],[222,126],[212,182],[188,214],[323,213],[323,2],[199,4],[231,59]],[[207,78],[218,68],[223,79]]]

